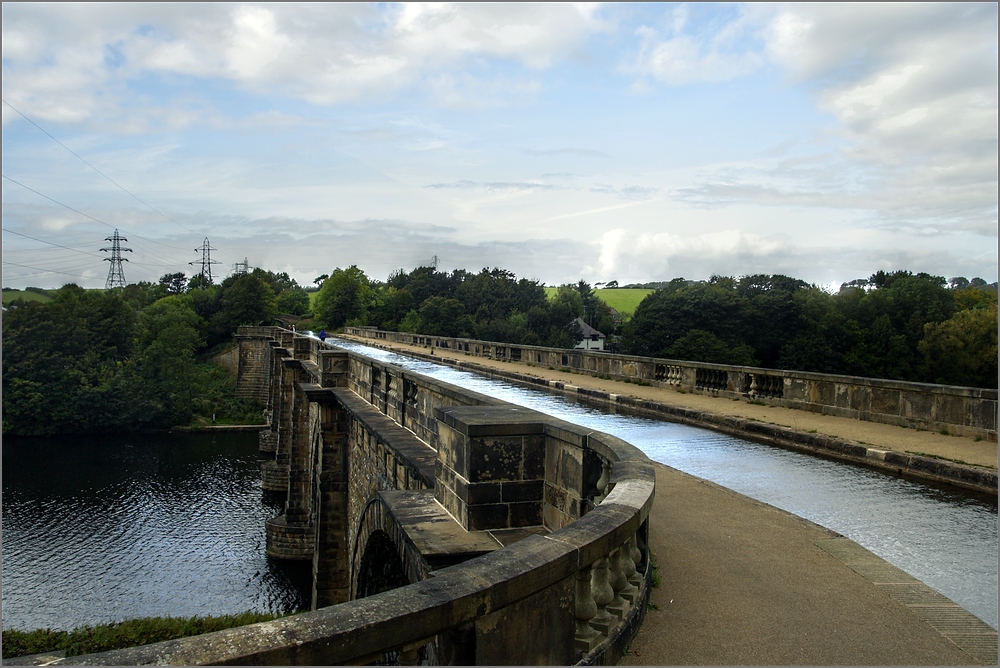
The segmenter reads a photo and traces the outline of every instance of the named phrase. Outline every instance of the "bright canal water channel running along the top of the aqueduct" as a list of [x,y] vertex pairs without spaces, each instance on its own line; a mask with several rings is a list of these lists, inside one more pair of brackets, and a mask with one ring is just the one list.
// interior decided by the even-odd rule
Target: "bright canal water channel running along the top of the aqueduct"
[[610,412],[453,367],[337,339],[338,346],[622,438],[654,461],[856,541],[997,627],[997,505],[984,495]]

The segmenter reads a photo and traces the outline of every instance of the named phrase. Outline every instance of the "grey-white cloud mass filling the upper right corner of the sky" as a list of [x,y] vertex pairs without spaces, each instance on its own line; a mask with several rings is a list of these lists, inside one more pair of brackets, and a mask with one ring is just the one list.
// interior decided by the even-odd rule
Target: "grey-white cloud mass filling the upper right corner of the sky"
[[[637,71],[645,75],[669,84],[722,80],[755,71],[766,56],[832,120],[809,142],[706,166],[673,196],[704,207],[853,209],[884,229],[996,236],[996,5],[859,8],[747,5],[699,27],[681,6],[667,28],[640,31]],[[739,37],[750,34],[759,46]],[[727,53],[748,56],[745,68],[727,66]]]

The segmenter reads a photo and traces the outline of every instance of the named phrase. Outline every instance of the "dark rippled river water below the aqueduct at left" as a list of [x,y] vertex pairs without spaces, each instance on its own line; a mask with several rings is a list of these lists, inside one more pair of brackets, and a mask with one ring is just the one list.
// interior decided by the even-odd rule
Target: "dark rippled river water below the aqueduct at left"
[[4,438],[3,627],[308,607],[264,554],[280,512],[256,433]]

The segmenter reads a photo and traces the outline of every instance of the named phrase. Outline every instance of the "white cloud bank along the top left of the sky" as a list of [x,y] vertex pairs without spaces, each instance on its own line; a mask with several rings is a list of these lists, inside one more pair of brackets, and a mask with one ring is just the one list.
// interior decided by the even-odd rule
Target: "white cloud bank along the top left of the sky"
[[[448,108],[524,104],[539,83],[489,74],[490,62],[542,70],[608,29],[595,6],[571,4],[199,4],[181,12],[5,3],[4,95],[59,121],[109,113],[125,87],[148,76],[231,81],[318,105],[415,87]],[[482,74],[463,71],[473,60]]]

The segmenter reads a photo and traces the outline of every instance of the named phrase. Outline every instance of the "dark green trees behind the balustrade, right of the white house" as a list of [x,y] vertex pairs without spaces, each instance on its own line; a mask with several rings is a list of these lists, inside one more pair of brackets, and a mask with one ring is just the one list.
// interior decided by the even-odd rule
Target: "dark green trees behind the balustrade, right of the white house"
[[636,355],[997,387],[997,292],[878,272],[830,294],[787,276],[675,279],[625,327]]

